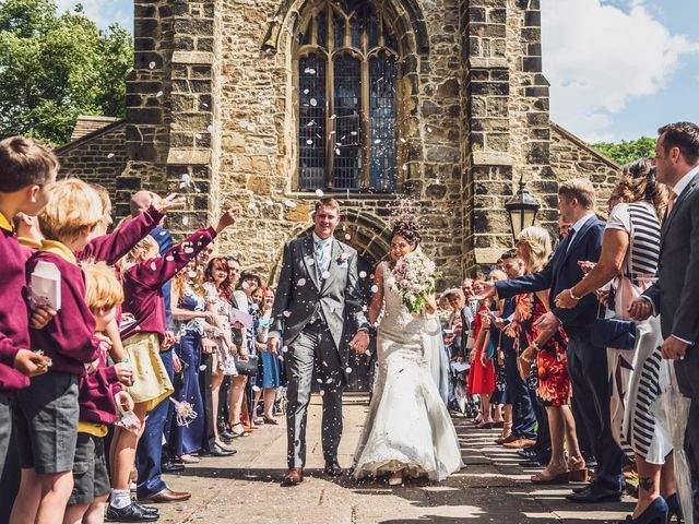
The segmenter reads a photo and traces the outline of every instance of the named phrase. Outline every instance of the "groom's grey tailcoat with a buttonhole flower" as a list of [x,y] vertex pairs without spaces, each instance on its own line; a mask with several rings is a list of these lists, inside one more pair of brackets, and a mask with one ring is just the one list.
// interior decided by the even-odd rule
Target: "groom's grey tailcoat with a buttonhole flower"
[[317,314],[325,320],[337,350],[344,341],[345,319],[355,331],[369,329],[357,282],[357,251],[333,238],[328,272],[327,278],[319,274],[311,235],[284,246],[271,327],[282,334],[284,344],[292,344]]

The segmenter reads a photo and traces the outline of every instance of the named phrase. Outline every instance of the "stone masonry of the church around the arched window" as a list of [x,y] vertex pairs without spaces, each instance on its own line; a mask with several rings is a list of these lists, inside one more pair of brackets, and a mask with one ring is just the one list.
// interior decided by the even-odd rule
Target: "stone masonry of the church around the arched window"
[[[134,190],[183,192],[188,211],[169,222],[178,233],[238,207],[220,249],[273,279],[283,243],[310,227],[318,198],[296,186],[296,49],[325,1],[135,0],[127,119],[110,135],[122,168],[116,181],[104,166],[90,171],[86,157],[104,152],[88,140],[61,150],[66,171],[108,177],[100,183],[122,215]],[[503,204],[520,178],[542,202],[544,224],[556,219],[560,180],[587,176],[608,189],[616,166],[549,122],[538,0],[372,5],[399,37],[396,191],[327,192],[343,204],[340,239],[368,263],[386,257],[396,210],[413,210],[428,253],[454,283],[511,245]]]

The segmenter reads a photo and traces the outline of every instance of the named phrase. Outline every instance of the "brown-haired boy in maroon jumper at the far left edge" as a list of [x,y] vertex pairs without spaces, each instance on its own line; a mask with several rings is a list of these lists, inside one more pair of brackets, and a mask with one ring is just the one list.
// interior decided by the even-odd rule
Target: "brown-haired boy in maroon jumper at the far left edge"
[[29,385],[27,377],[47,371],[44,359],[29,350],[29,314],[22,298],[26,253],[13,219],[46,205],[46,187],[57,171],[56,155],[40,143],[23,136],[0,142],[0,477],[12,429],[11,395]]

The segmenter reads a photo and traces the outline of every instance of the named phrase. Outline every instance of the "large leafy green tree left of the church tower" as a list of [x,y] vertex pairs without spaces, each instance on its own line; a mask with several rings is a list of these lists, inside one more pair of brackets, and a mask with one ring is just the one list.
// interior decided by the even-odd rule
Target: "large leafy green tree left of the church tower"
[[131,35],[106,31],[81,5],[54,0],[0,2],[0,138],[25,134],[66,143],[80,115],[123,117]]

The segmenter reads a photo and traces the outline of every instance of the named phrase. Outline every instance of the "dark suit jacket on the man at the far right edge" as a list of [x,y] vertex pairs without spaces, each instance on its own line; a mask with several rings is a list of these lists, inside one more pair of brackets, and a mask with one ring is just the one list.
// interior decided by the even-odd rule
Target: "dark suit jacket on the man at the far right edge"
[[660,313],[663,338],[699,342],[699,175],[663,222],[657,281],[643,295]]

